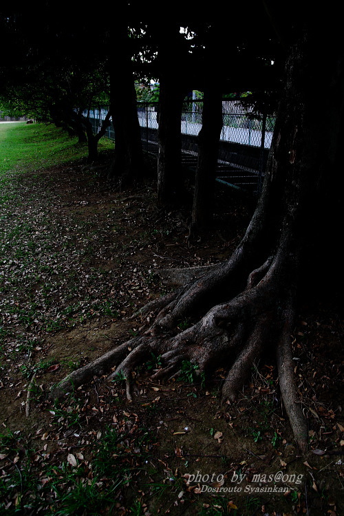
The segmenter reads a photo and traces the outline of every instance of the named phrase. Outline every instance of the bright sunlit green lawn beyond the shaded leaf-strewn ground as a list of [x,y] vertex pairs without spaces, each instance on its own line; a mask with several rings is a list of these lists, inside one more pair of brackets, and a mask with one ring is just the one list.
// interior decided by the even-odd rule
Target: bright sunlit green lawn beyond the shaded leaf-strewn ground
[[[106,139],[100,142],[103,149],[113,146]],[[0,174],[14,169],[39,170],[87,156],[86,144],[52,124],[0,123],[0,149]]]

